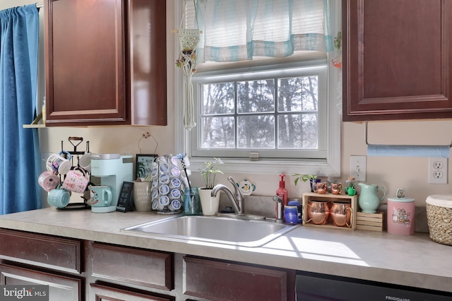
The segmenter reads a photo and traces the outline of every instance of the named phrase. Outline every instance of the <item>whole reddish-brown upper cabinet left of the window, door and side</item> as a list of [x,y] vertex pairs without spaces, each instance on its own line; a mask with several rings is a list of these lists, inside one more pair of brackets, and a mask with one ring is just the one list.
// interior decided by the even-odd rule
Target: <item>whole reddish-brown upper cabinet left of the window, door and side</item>
[[47,126],[166,125],[166,1],[46,0]]

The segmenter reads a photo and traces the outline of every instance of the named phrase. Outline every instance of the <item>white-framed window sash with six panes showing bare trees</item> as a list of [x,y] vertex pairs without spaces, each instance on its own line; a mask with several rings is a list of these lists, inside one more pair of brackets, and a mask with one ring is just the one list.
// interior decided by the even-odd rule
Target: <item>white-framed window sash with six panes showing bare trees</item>
[[325,65],[195,76],[192,156],[325,157]]

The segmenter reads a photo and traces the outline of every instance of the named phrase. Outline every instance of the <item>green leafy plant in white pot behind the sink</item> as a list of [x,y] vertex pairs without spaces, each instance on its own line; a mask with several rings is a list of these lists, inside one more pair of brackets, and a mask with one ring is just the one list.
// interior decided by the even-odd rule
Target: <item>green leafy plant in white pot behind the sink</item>
[[213,158],[214,160],[204,162],[204,168],[199,170],[203,176],[205,187],[199,189],[199,198],[201,199],[201,208],[203,209],[203,215],[213,216],[218,212],[218,205],[220,203],[220,194],[212,197],[210,193],[215,186],[215,177],[217,174],[223,174],[218,169],[218,165],[223,164],[220,158]]

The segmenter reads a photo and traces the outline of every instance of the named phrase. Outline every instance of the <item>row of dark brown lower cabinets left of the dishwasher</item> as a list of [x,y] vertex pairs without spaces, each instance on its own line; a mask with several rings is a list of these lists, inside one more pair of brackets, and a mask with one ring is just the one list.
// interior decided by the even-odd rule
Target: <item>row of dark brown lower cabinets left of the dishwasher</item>
[[0,284],[49,301],[295,301],[295,271],[0,228]]

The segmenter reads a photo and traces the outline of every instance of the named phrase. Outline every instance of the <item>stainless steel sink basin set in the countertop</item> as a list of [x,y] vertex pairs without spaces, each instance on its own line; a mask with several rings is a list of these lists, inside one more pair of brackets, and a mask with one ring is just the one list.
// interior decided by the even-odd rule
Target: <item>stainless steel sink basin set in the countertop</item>
[[218,216],[173,216],[121,229],[165,240],[195,240],[243,247],[261,247],[297,225],[273,220],[242,220]]

